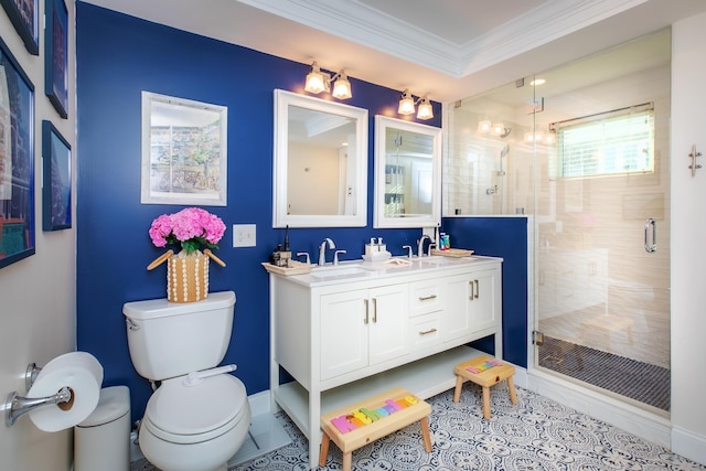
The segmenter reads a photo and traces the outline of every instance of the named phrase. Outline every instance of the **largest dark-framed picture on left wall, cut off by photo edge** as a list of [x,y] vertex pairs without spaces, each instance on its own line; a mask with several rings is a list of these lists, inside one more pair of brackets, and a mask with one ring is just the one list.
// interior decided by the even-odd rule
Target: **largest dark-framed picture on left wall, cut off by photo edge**
[[0,268],[34,255],[34,85],[0,39]]

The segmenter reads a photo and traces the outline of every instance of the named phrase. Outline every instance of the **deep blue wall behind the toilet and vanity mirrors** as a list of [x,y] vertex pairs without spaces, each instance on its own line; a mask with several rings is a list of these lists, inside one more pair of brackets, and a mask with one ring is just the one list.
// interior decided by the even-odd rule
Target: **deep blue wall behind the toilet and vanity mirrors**
[[[83,2],[76,23],[78,350],[100,361],[105,386],[130,387],[132,414],[140,417],[151,389],[130,362],[122,304],[165,296],[165,268],[146,269],[164,251],[152,246],[148,229],[158,215],[181,208],[140,204],[140,94],[223,105],[229,110],[228,205],[206,208],[227,226],[216,253],[227,267],[212,264],[211,291],[234,290],[237,297],[224,362],[238,365],[248,394],[268,389],[269,286],[260,263],[284,238],[271,228],[272,90],[300,90],[309,66]],[[349,258],[359,258],[365,240],[382,236],[394,254],[403,254],[419,229],[372,228],[374,116],[394,116],[400,93],[351,83],[354,96],[345,103],[370,114],[367,227],[290,229],[291,248],[315,254],[332,237]],[[425,124],[439,127],[441,108],[434,107],[435,119]],[[257,246],[231,247],[233,224],[256,224]]]

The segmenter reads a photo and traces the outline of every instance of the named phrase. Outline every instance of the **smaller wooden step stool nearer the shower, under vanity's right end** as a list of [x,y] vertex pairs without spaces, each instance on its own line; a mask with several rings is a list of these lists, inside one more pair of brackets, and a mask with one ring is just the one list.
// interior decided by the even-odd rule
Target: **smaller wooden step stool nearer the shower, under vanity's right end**
[[475,383],[483,388],[483,418],[490,419],[490,387],[503,379],[507,379],[510,400],[512,400],[512,404],[517,404],[515,382],[512,378],[515,374],[515,367],[513,365],[509,365],[491,356],[482,355],[456,365],[453,372],[456,373],[453,402],[458,403],[461,398],[461,386],[463,382],[470,381]]

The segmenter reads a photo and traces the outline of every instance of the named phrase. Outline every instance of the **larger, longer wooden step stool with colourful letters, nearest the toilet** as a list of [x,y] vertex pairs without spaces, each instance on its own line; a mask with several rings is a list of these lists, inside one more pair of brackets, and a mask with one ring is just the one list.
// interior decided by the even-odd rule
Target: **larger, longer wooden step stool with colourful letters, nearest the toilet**
[[[361,414],[365,420],[371,415],[379,415],[379,417],[370,424],[364,424],[361,421]],[[343,452],[343,471],[351,471],[351,453],[354,450],[417,420],[421,422],[424,448],[427,452],[431,452],[429,414],[431,414],[429,404],[400,387],[325,414],[321,417],[323,437],[319,465],[322,467],[327,463],[330,440],[333,440]]]

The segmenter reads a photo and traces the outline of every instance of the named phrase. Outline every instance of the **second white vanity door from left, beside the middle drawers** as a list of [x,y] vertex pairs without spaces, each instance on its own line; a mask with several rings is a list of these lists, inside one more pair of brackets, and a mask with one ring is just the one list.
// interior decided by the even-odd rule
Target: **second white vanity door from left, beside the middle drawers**
[[393,285],[370,291],[370,364],[385,362],[409,352],[407,285]]

